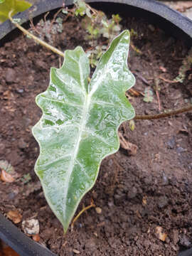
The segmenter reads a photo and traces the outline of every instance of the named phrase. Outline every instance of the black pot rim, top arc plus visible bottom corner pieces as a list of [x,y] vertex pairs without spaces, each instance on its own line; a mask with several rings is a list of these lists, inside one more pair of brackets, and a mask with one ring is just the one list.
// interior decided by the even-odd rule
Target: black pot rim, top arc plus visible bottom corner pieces
[[[111,4],[127,4],[127,6],[133,6],[137,9],[149,11],[155,14],[157,17],[164,18],[164,20],[169,21],[169,23],[174,24],[183,33],[188,36],[192,41],[192,21],[183,16],[178,11],[175,11],[165,4],[154,0],[87,0],[87,3],[111,3]],[[73,4],[73,0],[66,0],[65,6]],[[47,11],[53,9],[58,9],[63,6],[63,0],[41,0],[38,4],[31,6],[30,9],[16,14],[14,18],[20,18],[21,24],[28,21],[30,18],[35,18]],[[16,27],[11,21],[7,20],[0,25],[0,41]],[[26,235],[24,235],[14,224],[7,220],[4,215],[0,213],[0,238],[6,242],[7,245],[11,246],[16,252],[21,256],[35,256],[35,255],[55,255],[50,252],[47,248],[42,247],[37,242],[34,242]],[[181,252],[181,255],[188,255],[188,251]],[[42,254],[43,253],[43,254]]]

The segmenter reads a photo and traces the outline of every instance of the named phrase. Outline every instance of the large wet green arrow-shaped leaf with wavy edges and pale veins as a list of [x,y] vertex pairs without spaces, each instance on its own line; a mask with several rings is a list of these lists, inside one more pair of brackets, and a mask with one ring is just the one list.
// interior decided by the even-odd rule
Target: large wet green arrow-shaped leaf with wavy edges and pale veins
[[36,97],[43,111],[33,127],[40,146],[35,171],[46,199],[66,231],[100,163],[119,149],[117,129],[134,117],[125,91],[134,85],[127,68],[129,31],[114,38],[92,80],[81,47],[65,51],[62,68],[51,68],[50,85]]

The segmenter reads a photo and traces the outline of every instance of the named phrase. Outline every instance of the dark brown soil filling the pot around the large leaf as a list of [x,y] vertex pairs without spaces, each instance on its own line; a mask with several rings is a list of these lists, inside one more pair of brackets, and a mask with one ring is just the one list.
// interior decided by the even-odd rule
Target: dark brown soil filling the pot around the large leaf
[[[142,26],[141,26],[142,24]],[[181,40],[167,36],[141,18],[124,19],[124,28],[133,28],[133,39],[142,54],[130,48],[129,68],[137,73],[135,90],[153,87],[159,75],[173,80],[178,75],[187,48]],[[54,39],[60,49],[81,45],[83,32],[75,21],[65,23],[63,33]],[[14,208],[23,220],[36,216],[40,222],[40,242],[58,255],[177,255],[192,243],[192,160],[191,113],[168,119],[136,121],[134,132],[125,122],[120,127],[124,138],[138,146],[137,154],[119,151],[102,161],[94,188],[83,198],[88,206],[91,198],[102,209],[83,213],[74,229],[63,235],[63,228],[51,212],[43,196],[33,166],[38,157],[38,144],[31,127],[41,117],[35,97],[48,87],[51,66],[58,67],[60,58],[37,46],[23,35],[0,48],[0,160],[6,160],[31,181],[0,181],[0,210]],[[162,68],[165,68],[165,72]],[[139,75],[138,75],[139,74]],[[144,79],[149,82],[146,85]],[[191,80],[169,83],[159,79],[162,111],[182,107],[191,98]],[[131,97],[137,114],[158,113],[154,102]],[[17,224],[21,228],[21,223]],[[156,234],[163,228],[166,240]]]

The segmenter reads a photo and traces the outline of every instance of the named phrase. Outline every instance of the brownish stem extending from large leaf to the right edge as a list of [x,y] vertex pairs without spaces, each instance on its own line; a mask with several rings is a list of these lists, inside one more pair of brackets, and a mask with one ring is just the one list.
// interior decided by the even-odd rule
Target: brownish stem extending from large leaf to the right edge
[[183,107],[178,110],[171,110],[166,113],[161,113],[161,114],[144,114],[144,115],[136,115],[134,119],[159,119],[159,118],[164,118],[164,117],[171,117],[175,114],[181,114],[183,112],[188,112],[192,110],[192,105],[188,105],[186,107]]

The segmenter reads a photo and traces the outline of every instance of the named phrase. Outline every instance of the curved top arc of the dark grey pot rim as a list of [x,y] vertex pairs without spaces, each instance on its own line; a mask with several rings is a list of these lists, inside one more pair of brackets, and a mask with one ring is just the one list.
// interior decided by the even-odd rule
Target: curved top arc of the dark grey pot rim
[[[180,28],[183,33],[186,34],[192,41],[192,21],[183,14],[171,9],[169,6],[162,4],[154,0],[87,0],[87,3],[112,3],[112,4],[127,4],[135,8],[149,11],[151,14],[155,14],[163,18],[165,21],[169,21],[177,28]],[[73,4],[73,0],[66,0],[65,6]],[[38,4],[31,6],[30,9],[16,14],[14,18],[19,18],[20,23],[23,24],[30,18],[35,18],[47,11],[58,9],[63,6],[63,0],[41,0]],[[11,21],[7,20],[0,25],[0,41],[16,27]]]

